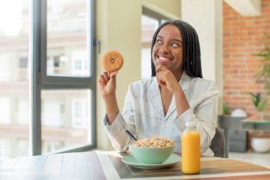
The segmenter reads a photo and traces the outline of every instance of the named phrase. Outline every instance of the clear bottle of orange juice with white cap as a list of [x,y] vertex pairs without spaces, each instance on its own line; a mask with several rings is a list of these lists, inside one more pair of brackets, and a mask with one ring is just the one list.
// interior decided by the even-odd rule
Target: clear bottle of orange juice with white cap
[[198,174],[200,172],[200,133],[196,122],[185,122],[182,134],[182,172]]

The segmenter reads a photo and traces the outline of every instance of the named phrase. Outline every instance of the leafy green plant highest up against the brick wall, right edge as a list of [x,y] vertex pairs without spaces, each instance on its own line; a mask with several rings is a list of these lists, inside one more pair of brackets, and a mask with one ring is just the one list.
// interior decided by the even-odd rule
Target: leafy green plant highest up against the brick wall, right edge
[[268,92],[268,95],[270,95],[270,35],[266,33],[264,35],[269,39],[268,44],[264,43],[264,49],[260,53],[254,53],[253,55],[263,58],[261,60],[261,70],[257,73],[256,77],[257,79],[264,78],[264,88]]

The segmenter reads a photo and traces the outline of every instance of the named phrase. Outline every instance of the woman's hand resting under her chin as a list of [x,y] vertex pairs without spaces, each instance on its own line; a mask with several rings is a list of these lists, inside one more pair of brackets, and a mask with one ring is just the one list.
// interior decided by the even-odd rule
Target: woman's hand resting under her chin
[[156,80],[158,80],[158,85],[165,86],[171,92],[175,92],[181,88],[171,70],[163,65],[156,67]]

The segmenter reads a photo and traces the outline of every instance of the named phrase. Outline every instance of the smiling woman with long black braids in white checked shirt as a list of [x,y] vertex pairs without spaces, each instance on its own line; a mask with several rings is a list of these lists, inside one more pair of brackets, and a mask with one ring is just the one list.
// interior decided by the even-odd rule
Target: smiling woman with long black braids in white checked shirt
[[151,46],[152,78],[131,83],[123,112],[117,105],[117,72],[104,72],[97,79],[106,105],[104,124],[112,145],[119,152],[132,141],[158,136],[175,142],[181,152],[185,122],[197,122],[201,153],[209,149],[215,135],[218,90],[214,82],[202,79],[200,43],[194,28],[183,21],[163,23]]

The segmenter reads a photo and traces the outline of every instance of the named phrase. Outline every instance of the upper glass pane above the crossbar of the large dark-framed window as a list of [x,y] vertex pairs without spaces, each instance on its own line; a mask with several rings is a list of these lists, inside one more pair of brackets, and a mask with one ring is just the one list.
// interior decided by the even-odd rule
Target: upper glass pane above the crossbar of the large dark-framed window
[[47,1],[47,75],[90,75],[87,17],[87,0]]

